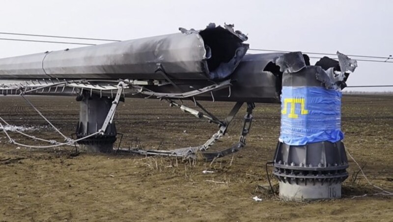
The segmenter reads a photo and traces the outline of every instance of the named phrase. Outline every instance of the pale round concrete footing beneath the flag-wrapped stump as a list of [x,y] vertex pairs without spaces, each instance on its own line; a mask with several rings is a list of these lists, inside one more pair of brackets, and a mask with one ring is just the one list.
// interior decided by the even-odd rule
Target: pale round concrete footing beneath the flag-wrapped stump
[[304,185],[281,181],[280,198],[297,201],[341,198],[341,183],[322,185],[320,182],[315,182],[315,185],[312,183]]

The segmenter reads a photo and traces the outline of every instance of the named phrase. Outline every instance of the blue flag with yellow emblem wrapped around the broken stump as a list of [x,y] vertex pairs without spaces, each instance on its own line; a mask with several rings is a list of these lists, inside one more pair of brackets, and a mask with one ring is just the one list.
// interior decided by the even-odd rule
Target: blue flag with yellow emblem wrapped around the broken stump
[[283,86],[280,141],[305,145],[343,139],[341,97],[341,91],[324,87]]

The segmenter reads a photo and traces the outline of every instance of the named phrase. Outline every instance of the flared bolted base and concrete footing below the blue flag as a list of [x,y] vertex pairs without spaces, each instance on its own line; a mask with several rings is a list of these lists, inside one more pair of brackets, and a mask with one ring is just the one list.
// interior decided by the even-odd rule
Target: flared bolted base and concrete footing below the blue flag
[[279,142],[273,173],[280,181],[280,196],[284,199],[329,199],[341,197],[341,182],[348,177],[347,167],[341,141],[303,146]]

